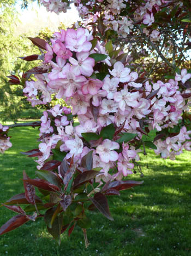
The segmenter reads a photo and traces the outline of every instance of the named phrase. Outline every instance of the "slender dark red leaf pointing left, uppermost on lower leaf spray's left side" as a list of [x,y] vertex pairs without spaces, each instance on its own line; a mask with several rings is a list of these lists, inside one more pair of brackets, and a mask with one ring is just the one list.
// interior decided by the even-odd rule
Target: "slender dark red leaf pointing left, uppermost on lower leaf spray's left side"
[[53,191],[53,192],[59,191],[59,187],[57,187],[43,179],[29,179],[28,178],[24,181],[27,181],[29,184],[39,187],[39,189],[44,189],[44,190]]

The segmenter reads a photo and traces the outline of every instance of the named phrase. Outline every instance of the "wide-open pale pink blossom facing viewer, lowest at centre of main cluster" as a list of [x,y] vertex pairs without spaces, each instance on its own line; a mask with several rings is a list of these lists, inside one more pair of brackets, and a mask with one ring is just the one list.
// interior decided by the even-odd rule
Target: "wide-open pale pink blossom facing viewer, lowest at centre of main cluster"
[[114,151],[120,149],[120,145],[109,139],[105,139],[101,145],[97,146],[96,153],[98,153],[100,160],[104,163],[115,162],[118,159],[118,153]]

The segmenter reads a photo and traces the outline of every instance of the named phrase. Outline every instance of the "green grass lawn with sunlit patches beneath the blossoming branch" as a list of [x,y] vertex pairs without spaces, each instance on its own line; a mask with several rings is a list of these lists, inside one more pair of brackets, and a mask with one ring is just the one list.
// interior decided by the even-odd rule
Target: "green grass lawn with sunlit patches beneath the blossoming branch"
[[[22,170],[34,178],[32,158],[21,155],[38,147],[38,129],[19,127],[10,130],[11,147],[0,155],[0,202],[24,192]],[[190,202],[190,152],[178,156],[176,161],[162,160],[154,152],[141,155],[144,178],[139,174],[129,179],[144,180],[134,189],[114,196],[110,210],[114,221],[99,212],[89,214],[93,227],[87,230],[89,247],[86,249],[83,234],[76,227],[71,236],[62,235],[61,246],[46,231],[38,219],[29,221],[0,238],[0,255],[191,255],[191,202]],[[111,197],[110,197],[111,198]],[[0,208],[0,225],[13,217],[14,212]]]

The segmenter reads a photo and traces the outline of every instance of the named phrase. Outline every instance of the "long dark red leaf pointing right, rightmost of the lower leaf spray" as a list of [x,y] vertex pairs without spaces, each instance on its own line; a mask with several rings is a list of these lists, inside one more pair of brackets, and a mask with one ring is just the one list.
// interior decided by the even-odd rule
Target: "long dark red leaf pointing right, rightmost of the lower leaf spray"
[[130,187],[138,186],[144,183],[144,181],[135,181],[135,180],[115,180],[111,183],[106,183],[102,191],[106,191],[108,189],[115,189],[118,191],[129,189]]

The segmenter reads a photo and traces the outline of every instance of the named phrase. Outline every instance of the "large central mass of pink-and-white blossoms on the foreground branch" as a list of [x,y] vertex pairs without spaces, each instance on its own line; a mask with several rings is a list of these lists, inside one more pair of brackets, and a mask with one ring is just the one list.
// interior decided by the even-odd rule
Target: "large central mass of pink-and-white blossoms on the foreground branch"
[[[182,70],[165,83],[140,83],[138,73],[126,66],[126,59],[117,61],[124,53],[114,50],[114,45],[112,50],[105,47],[82,28],[56,32],[51,45],[46,44],[43,65],[49,70],[35,75],[36,81],[27,81],[23,92],[33,105],[46,104],[51,95],[56,95],[71,106],[72,113],[60,105],[44,112],[38,169],[51,159],[57,147],[66,159],[74,156],[77,166],[92,151],[93,168],[102,168],[104,179],[122,179],[132,173],[134,160],[139,160],[145,129],[162,133],[182,120],[189,101],[183,97],[186,91],[180,90],[178,82],[185,83],[191,74]],[[76,127],[75,116],[80,123]],[[127,134],[134,136],[126,140]],[[188,149],[189,133],[185,138],[181,146],[176,136],[177,146],[172,147],[169,138],[157,140],[156,153],[171,157],[175,149],[178,153]],[[164,150],[169,153],[164,154]]]

